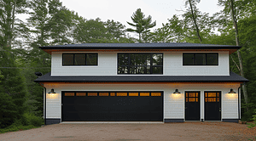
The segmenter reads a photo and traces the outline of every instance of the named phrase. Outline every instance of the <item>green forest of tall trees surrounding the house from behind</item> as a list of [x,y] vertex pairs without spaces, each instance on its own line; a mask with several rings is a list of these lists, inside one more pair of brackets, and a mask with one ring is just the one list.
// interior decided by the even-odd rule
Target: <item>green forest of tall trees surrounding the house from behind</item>
[[[174,14],[150,31],[155,22],[140,8],[137,11],[141,13],[131,15],[133,20],[127,19],[129,25],[135,25],[129,29],[119,21],[86,20],[59,0],[0,0],[0,129],[44,124],[44,88],[33,81],[37,79],[35,72],[50,71],[51,58],[38,47],[85,42],[241,46],[230,54],[230,71],[250,81],[241,90],[241,121],[252,121],[256,112],[256,1],[218,0],[222,9],[212,16],[202,13],[198,3],[200,0],[186,0],[183,14]],[[18,14],[28,14],[29,18],[20,20]],[[139,38],[129,36],[130,31]],[[10,130],[0,133],[6,131]]]

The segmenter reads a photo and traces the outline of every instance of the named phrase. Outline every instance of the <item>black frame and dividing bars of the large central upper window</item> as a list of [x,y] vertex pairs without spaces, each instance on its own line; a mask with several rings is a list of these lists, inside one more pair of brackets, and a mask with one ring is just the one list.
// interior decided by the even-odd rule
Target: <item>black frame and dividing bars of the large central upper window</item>
[[[119,54],[128,54],[128,65],[119,65]],[[150,65],[134,65],[134,66],[150,66],[150,73],[148,74],[131,74],[130,73],[130,68],[131,68],[131,57],[130,54],[150,54]],[[162,64],[163,65],[153,65],[153,59],[152,59],[152,54],[162,54]],[[127,66],[128,67],[128,73],[119,73],[119,66]],[[160,66],[162,67],[162,71],[160,74],[155,74],[153,73],[153,67]],[[164,71],[164,54],[163,53],[118,53],[117,54],[117,74],[118,75],[163,75]]]

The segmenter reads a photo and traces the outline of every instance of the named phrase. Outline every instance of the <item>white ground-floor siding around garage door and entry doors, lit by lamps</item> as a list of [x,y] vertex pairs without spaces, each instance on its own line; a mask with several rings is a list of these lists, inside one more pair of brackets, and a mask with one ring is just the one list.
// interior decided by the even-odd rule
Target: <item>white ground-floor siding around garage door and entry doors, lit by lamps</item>
[[[227,97],[230,88],[237,91],[239,84],[46,84],[47,91],[55,89],[54,98],[47,94],[47,118],[61,118],[61,91],[164,91],[164,119],[184,119],[184,92],[201,92],[201,119],[204,119],[204,91],[222,91],[222,118],[238,118],[237,97]],[[181,94],[173,94],[178,88]],[[237,93],[237,92],[236,92]]]

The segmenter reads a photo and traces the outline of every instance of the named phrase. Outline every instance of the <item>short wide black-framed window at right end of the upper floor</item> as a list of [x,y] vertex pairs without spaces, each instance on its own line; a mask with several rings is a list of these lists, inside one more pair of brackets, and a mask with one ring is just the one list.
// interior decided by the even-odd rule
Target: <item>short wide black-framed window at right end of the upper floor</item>
[[218,65],[218,53],[183,53],[183,65]]

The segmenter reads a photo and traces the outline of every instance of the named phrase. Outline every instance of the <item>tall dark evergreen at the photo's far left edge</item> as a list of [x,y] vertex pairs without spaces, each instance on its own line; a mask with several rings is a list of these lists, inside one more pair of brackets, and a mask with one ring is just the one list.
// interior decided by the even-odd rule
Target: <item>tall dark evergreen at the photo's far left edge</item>
[[[20,70],[14,69],[15,54],[13,51],[13,41],[15,32],[15,14],[24,12],[23,0],[2,0],[0,2],[0,71],[3,72],[3,78],[0,82],[1,96],[6,97],[2,100],[9,100],[10,107],[1,107],[1,119],[7,119],[3,126],[7,127],[14,122],[14,118],[19,119],[26,107],[24,106],[26,98],[26,87],[24,77]],[[21,9],[21,10],[20,10]],[[1,105],[2,105],[1,104]],[[6,115],[2,114],[4,112]],[[1,120],[2,121],[2,120]]]

